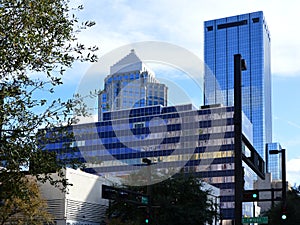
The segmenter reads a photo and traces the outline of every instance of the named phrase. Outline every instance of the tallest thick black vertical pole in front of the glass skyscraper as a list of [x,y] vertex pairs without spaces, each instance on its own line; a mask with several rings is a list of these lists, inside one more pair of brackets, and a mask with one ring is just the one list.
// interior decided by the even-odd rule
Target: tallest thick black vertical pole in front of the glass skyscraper
[[242,224],[242,56],[234,55],[234,181],[235,225]]

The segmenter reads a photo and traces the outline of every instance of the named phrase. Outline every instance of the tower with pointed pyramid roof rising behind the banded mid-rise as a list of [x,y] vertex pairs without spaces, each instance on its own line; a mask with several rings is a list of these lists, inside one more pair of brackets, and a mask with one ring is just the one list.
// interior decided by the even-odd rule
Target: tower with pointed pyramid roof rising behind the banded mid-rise
[[154,72],[131,52],[110,67],[104,80],[104,90],[98,96],[98,120],[102,113],[152,105],[167,106],[165,84],[159,83]]

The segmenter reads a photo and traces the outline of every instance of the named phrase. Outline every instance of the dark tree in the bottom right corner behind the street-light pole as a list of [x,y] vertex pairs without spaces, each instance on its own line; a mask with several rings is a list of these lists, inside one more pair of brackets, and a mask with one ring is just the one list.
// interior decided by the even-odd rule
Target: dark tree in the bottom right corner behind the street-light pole
[[269,217],[270,225],[277,225],[279,221],[283,221],[283,213],[286,215],[284,219],[284,224],[286,225],[296,225],[300,223],[300,186],[293,187],[287,192],[287,203],[286,208],[282,208],[282,203],[279,203],[272,207],[269,211],[265,213]]

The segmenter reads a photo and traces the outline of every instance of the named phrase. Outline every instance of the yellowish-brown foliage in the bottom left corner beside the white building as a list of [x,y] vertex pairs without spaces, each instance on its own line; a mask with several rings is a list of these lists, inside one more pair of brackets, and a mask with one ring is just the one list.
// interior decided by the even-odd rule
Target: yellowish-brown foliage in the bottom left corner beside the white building
[[37,182],[26,177],[21,183],[26,197],[14,197],[2,202],[0,225],[43,225],[52,222],[52,216],[46,211],[47,203],[41,197]]

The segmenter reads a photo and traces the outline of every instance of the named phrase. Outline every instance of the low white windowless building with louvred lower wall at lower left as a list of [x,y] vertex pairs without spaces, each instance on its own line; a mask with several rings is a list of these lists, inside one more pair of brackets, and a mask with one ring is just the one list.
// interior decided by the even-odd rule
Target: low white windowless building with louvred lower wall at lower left
[[[108,200],[102,199],[102,184],[111,183],[102,177],[70,168],[64,174],[64,178],[72,184],[66,192],[49,183],[40,186],[48,210],[54,216],[55,225],[104,224]],[[53,178],[58,177],[53,175]]]

